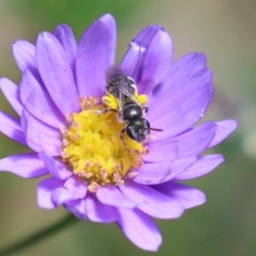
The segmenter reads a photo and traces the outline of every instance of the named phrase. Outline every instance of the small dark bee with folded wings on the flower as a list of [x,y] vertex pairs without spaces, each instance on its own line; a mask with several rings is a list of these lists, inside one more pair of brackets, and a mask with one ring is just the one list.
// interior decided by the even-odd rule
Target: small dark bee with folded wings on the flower
[[126,123],[125,128],[120,131],[121,139],[124,141],[123,134],[126,132],[132,140],[142,143],[148,137],[150,125],[145,119],[148,108],[144,107],[135,95],[136,83],[116,66],[108,68],[106,81],[106,90],[118,102],[118,110],[110,110],[118,113],[119,122]]

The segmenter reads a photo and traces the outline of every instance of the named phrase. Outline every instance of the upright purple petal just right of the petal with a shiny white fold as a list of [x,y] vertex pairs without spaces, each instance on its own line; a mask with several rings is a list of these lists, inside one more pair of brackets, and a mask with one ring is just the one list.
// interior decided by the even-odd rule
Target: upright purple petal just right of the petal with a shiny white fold
[[169,78],[172,58],[172,39],[166,32],[157,32],[151,44],[149,44],[143,60],[139,84],[140,93],[151,95],[155,86]]

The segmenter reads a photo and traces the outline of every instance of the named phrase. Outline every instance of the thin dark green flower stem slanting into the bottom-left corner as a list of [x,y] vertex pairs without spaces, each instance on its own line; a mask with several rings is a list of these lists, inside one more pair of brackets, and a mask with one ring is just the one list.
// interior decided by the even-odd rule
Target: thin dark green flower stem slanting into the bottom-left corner
[[1,256],[11,255],[12,253],[20,251],[21,249],[24,249],[26,247],[29,247],[32,244],[44,238],[47,238],[51,235],[54,235],[56,232],[59,232],[64,228],[67,228],[69,225],[76,223],[78,220],[79,220],[78,218],[70,214],[67,217],[62,218],[61,221],[59,221],[58,223],[54,225],[50,225],[45,230],[41,230],[38,233],[34,234],[33,236],[26,237],[26,239],[19,241],[10,247],[3,248],[2,250],[0,249],[0,255]]

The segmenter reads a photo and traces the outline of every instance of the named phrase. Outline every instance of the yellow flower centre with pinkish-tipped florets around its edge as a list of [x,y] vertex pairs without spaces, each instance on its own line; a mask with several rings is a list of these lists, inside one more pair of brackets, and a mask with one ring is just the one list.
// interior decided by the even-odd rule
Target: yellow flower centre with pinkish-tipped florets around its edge
[[[141,100],[146,102],[143,96]],[[125,129],[125,123],[119,123],[113,111],[102,112],[106,108],[117,110],[113,96],[104,96],[104,105],[98,103],[97,96],[79,98],[79,102],[82,111],[68,115],[68,129],[61,127],[62,161],[75,175],[88,181],[90,192],[108,183],[123,184],[125,178],[137,174],[132,169],[143,165],[143,154],[148,148],[126,133],[121,139],[120,131]]]

